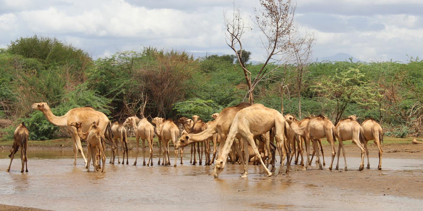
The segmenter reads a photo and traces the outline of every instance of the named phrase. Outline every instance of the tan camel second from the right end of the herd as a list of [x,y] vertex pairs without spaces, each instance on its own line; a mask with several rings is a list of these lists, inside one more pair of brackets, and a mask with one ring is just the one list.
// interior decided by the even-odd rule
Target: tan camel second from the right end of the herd
[[346,166],[346,157],[345,157],[345,149],[343,147],[343,141],[346,140],[352,140],[352,143],[358,146],[361,150],[361,162],[360,162],[360,168],[358,170],[364,169],[364,131],[363,127],[360,126],[360,124],[355,121],[356,117],[354,115],[348,116],[346,119],[342,119],[338,122],[335,126],[335,135],[338,138],[339,145],[338,145],[338,161],[336,162],[336,168],[335,170],[338,170],[338,164],[339,164],[339,155],[342,148],[342,156],[344,157],[345,161],[345,170],[348,170]]

